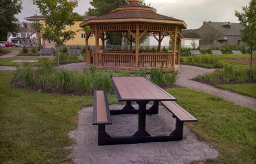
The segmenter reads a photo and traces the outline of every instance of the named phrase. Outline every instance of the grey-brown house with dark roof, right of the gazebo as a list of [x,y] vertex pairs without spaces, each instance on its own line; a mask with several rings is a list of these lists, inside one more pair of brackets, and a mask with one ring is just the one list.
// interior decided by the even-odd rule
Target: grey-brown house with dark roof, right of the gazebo
[[203,22],[203,26],[197,30],[197,34],[202,39],[200,44],[247,45],[241,37],[243,28],[238,23]]

